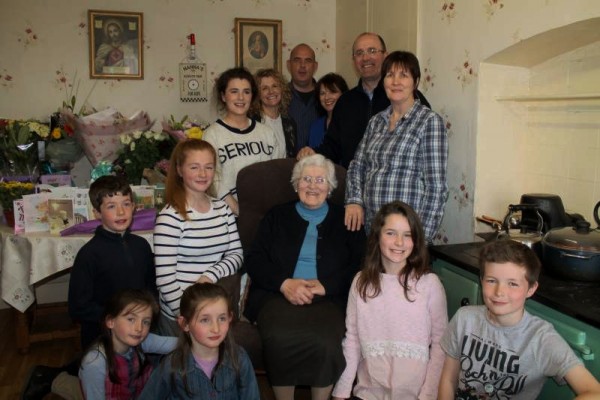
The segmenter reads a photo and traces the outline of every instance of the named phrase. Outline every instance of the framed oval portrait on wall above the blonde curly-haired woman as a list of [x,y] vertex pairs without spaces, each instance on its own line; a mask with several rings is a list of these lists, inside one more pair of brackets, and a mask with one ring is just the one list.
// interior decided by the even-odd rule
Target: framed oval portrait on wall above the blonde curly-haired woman
[[235,65],[281,72],[281,20],[236,18]]

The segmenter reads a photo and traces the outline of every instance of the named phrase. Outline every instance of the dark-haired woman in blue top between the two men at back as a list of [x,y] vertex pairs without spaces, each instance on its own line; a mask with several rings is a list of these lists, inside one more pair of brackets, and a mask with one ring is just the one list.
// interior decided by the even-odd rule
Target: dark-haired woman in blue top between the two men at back
[[317,82],[315,92],[319,96],[318,112],[320,117],[310,125],[308,145],[313,149],[319,147],[331,122],[333,108],[337,100],[348,91],[348,84],[341,75],[329,73]]

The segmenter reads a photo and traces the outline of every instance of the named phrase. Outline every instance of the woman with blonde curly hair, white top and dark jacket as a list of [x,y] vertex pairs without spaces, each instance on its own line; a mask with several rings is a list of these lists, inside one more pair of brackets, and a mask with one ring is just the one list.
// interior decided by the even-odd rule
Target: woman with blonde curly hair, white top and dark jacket
[[288,116],[292,100],[289,84],[274,69],[261,69],[254,74],[258,97],[250,108],[250,115],[258,122],[271,127],[280,147],[285,147],[287,157],[296,156],[296,123]]

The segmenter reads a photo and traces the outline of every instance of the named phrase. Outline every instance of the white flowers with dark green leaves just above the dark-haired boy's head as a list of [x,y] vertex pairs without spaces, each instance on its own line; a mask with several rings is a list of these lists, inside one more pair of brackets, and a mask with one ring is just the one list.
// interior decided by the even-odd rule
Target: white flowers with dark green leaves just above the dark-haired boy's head
[[129,183],[139,185],[144,169],[154,169],[171,157],[177,141],[164,132],[137,130],[121,134],[122,149],[113,162],[113,170],[127,177]]

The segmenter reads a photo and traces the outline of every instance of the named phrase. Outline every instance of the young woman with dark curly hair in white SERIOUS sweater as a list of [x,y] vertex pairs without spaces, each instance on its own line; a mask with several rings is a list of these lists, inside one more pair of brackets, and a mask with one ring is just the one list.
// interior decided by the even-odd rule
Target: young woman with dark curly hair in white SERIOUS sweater
[[223,72],[215,84],[218,109],[223,118],[212,124],[202,137],[217,150],[220,179],[215,180],[217,197],[237,215],[236,179],[238,172],[251,164],[285,157],[285,147],[275,140],[273,130],[248,117],[258,89],[245,68]]

